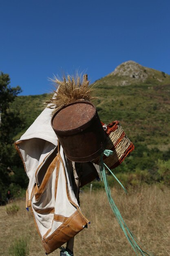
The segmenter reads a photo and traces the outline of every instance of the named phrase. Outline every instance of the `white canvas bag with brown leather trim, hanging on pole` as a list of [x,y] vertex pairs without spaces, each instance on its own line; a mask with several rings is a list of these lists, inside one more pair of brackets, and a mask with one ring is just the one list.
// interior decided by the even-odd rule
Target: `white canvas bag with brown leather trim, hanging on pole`
[[31,206],[47,254],[88,224],[73,192],[68,160],[51,127],[51,112],[46,108],[15,142],[29,177],[26,207]]

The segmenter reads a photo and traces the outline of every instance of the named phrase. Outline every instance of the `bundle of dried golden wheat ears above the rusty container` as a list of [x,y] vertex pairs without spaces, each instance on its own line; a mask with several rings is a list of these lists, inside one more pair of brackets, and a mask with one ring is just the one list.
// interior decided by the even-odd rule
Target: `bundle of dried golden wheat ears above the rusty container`
[[92,101],[98,99],[95,96],[96,88],[95,86],[89,86],[89,81],[87,75],[82,76],[64,76],[62,80],[58,79],[56,76],[51,79],[55,83],[56,91],[53,97],[46,100],[45,105],[48,108],[53,108],[57,111],[62,106],[69,103],[73,103],[79,100]]

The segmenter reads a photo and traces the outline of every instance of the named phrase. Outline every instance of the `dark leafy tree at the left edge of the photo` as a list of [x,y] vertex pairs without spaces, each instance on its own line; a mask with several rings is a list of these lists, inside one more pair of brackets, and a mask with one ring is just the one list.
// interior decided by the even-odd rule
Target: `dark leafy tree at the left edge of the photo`
[[0,72],[0,190],[10,183],[9,172],[13,165],[13,136],[21,120],[9,106],[21,92],[20,86],[11,87],[8,74]]

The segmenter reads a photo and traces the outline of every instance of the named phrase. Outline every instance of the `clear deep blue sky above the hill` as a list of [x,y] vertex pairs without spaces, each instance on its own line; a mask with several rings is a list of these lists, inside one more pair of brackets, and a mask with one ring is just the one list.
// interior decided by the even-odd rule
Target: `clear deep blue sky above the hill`
[[86,70],[91,82],[133,60],[170,74],[170,0],[0,0],[0,70],[20,95]]

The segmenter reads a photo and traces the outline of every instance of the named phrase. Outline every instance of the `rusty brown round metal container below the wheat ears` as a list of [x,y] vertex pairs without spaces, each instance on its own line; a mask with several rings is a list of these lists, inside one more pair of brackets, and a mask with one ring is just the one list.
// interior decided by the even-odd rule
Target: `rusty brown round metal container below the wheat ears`
[[71,161],[92,161],[106,147],[106,133],[91,102],[76,101],[63,106],[53,115],[51,126]]

